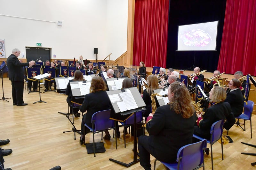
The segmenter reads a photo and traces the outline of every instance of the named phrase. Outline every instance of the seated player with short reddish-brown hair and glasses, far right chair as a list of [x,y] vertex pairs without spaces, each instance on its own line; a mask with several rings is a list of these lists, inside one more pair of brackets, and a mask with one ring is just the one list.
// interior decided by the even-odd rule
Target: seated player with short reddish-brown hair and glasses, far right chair
[[239,89],[241,86],[241,81],[233,78],[229,82],[228,90],[227,90],[227,99],[225,100],[231,106],[231,110],[235,117],[239,116],[243,112],[244,108],[244,97]]

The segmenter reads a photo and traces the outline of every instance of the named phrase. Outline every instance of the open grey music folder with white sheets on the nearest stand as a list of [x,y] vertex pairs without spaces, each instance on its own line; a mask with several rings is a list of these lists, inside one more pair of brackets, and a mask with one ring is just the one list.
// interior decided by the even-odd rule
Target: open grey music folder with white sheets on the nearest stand
[[145,109],[145,102],[140,96],[137,87],[124,90],[107,91],[115,113],[129,114]]

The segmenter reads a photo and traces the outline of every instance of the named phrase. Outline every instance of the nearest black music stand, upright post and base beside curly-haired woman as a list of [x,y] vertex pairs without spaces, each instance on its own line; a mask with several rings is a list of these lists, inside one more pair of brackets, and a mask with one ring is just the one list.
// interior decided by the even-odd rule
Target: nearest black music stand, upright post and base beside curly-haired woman
[[[138,108],[121,112],[119,107],[117,106],[117,102],[111,102],[111,105],[112,105],[112,107],[113,107],[113,109],[114,109],[116,114],[128,115],[128,114],[134,113],[134,129],[133,129],[133,134],[134,134],[133,139],[134,140],[133,140],[133,150],[132,150],[133,151],[133,161],[127,164],[127,163],[124,163],[124,162],[121,162],[121,161],[109,158],[110,161],[115,162],[115,163],[117,163],[119,165],[122,165],[122,166],[125,166],[125,167],[130,167],[130,166],[140,162],[140,159],[137,158],[137,155],[139,156],[139,154],[137,153],[137,130],[135,128],[136,127],[136,112],[139,112],[139,111],[142,111],[142,110],[146,110],[146,108],[145,108],[146,104],[143,101],[143,99],[141,98],[140,93],[139,93],[137,87],[132,87],[132,88],[129,88],[129,89],[130,89],[130,91],[132,93],[132,97],[134,98]],[[123,101],[121,96],[120,96],[120,94],[119,94],[119,93],[122,93],[121,90],[107,91],[107,93],[108,93],[108,96],[112,95],[112,94],[118,94],[118,96],[120,97],[120,100]],[[110,98],[110,101],[111,101],[111,98]]]

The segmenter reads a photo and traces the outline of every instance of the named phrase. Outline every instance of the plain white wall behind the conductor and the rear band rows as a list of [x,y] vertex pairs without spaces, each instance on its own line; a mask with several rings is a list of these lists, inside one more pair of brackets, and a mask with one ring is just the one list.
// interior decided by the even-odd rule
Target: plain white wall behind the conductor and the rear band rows
[[[98,59],[112,53],[110,60],[115,60],[126,51],[128,0],[0,0],[0,3],[0,39],[5,39],[6,56],[13,48],[26,54],[25,47],[36,47],[36,43],[52,48],[51,58],[56,55],[57,59],[78,59],[79,55],[95,59],[94,48],[99,48]],[[63,23],[57,26],[23,18]]]

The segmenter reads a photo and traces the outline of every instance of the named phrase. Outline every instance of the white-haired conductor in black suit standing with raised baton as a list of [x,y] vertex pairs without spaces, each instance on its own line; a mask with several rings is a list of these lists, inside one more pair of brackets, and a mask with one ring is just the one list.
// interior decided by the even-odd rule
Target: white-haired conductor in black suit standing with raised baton
[[12,54],[7,58],[6,63],[9,70],[9,80],[12,81],[12,102],[13,105],[25,106],[28,105],[23,101],[23,88],[24,88],[24,66],[29,66],[29,63],[20,63],[18,57],[20,50],[15,48]]

